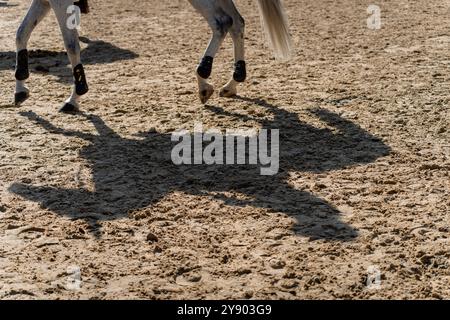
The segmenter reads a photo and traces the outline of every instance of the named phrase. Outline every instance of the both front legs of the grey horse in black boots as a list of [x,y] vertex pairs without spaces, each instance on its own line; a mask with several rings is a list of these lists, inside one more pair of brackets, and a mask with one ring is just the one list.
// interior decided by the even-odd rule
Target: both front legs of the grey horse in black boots
[[[82,12],[88,11],[87,0],[76,3]],[[72,112],[79,106],[80,97],[88,92],[89,88],[84,74],[84,68],[80,58],[80,44],[76,28],[69,28],[67,21],[70,17],[68,8],[74,5],[73,0],[33,0],[27,15],[17,30],[16,46],[16,91],[15,104],[20,105],[29,97],[29,90],[25,86],[25,80],[29,77],[27,44],[35,27],[44,19],[50,9],[55,12],[56,18],[64,39],[64,45],[72,65],[75,85],[72,95],[66,100],[61,111]]]

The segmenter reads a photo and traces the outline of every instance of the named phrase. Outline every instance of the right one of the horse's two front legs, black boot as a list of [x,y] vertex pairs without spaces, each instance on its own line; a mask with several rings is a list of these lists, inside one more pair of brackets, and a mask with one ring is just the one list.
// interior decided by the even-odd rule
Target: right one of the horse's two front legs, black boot
[[74,112],[78,109],[80,97],[89,91],[84,73],[83,65],[80,57],[80,42],[78,39],[78,31],[75,28],[69,28],[67,21],[70,14],[67,13],[69,6],[73,5],[73,0],[49,0],[50,5],[55,12],[61,33],[64,39],[64,45],[72,66],[75,85],[72,95],[65,101],[61,112]]

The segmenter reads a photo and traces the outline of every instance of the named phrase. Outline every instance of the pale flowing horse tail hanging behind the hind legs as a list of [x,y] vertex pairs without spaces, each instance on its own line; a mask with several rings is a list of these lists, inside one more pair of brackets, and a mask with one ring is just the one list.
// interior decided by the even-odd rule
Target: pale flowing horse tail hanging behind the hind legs
[[288,60],[292,56],[289,23],[281,0],[258,0],[261,21],[275,58]]

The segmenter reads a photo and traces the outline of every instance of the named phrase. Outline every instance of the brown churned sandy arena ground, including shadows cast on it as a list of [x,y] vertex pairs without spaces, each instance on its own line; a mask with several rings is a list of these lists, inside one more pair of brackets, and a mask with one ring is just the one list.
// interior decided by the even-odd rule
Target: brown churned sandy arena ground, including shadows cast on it
[[[237,0],[249,79],[206,106],[209,29],[187,1],[91,1],[72,116],[53,14],[11,106],[29,2],[0,1],[0,299],[450,298],[450,1],[377,1],[370,30],[372,0],[287,0],[280,64]],[[217,89],[231,72],[227,39]],[[171,133],[199,121],[280,129],[280,173],[173,165]]]

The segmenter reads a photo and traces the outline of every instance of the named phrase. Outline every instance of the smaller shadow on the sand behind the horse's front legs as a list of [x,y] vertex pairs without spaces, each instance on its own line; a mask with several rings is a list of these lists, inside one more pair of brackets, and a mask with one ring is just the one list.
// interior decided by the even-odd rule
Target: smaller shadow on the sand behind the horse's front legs
[[[87,44],[81,51],[81,61],[84,65],[107,64],[117,61],[133,60],[139,55],[131,50],[122,49],[112,43],[102,40],[90,40],[80,37],[80,42]],[[60,83],[72,83],[72,70],[65,51],[31,50],[30,71],[32,73],[56,76]],[[0,71],[14,70],[16,52],[0,52]]]

